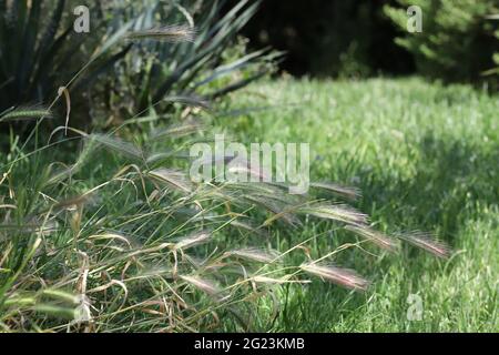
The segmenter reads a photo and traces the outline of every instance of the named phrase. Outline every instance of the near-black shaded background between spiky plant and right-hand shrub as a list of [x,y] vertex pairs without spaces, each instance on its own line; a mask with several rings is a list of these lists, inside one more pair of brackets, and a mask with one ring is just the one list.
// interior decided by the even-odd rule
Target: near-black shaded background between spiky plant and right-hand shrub
[[[235,1],[235,0],[233,0]],[[282,69],[294,75],[406,74],[411,55],[393,41],[396,29],[371,0],[263,0],[244,34],[255,48],[287,52]]]

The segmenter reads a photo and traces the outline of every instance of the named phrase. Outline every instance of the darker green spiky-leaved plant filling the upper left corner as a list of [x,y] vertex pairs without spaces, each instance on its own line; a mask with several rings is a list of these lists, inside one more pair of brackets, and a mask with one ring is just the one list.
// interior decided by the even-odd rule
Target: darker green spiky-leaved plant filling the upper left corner
[[[118,41],[106,32],[106,19],[99,2],[89,6],[91,33],[78,33],[73,22],[73,9],[82,4],[74,1],[0,1],[0,112],[19,104],[48,104],[58,95],[58,89],[75,78],[79,69],[89,65],[78,79],[91,83],[91,79],[112,69],[128,49],[108,53],[105,49]],[[77,78],[75,78],[77,79]],[[71,92],[73,112],[78,111],[81,93]],[[84,114],[88,104],[84,104]],[[23,131],[24,124],[14,128]]]

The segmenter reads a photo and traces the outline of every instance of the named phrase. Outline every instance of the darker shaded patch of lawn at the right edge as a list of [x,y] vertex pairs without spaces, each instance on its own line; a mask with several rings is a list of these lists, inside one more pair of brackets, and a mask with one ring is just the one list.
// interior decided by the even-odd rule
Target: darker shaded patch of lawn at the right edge
[[359,171],[363,209],[373,211],[387,225],[438,233],[452,243],[462,222],[473,217],[477,203],[499,201],[499,145],[473,146],[445,141],[427,133],[419,146],[420,159],[409,179]]

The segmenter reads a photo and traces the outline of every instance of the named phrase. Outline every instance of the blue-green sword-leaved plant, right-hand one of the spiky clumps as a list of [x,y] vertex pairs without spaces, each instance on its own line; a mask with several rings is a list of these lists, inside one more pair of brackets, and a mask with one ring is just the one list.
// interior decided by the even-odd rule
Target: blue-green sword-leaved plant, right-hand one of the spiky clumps
[[230,9],[223,3],[183,1],[180,6],[152,0],[129,7],[116,21],[118,27],[134,18],[138,19],[134,31],[157,23],[189,23],[195,27],[196,37],[193,42],[135,42],[108,83],[111,90],[106,92],[106,104],[112,108],[114,103],[126,102],[120,109],[131,115],[150,105],[161,108],[159,102],[169,95],[215,99],[269,72],[278,53],[268,50],[247,53],[245,45],[237,43],[238,32],[255,14],[259,1],[238,1]]

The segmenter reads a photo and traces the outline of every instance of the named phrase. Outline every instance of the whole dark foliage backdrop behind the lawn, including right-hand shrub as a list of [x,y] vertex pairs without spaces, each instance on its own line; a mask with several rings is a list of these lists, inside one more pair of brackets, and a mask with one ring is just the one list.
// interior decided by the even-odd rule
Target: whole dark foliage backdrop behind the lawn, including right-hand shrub
[[[406,30],[409,6],[422,10],[422,33]],[[497,12],[495,0],[264,0],[244,33],[287,51],[282,69],[296,75],[491,82]]]

